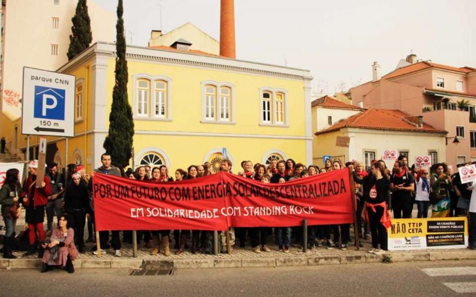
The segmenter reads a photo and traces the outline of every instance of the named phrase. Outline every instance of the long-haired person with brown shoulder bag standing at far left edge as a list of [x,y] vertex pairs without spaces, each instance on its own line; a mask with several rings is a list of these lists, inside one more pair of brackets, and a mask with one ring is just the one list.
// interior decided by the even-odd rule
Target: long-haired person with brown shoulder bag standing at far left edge
[[21,185],[18,180],[18,169],[8,169],[5,174],[5,182],[0,189],[1,215],[5,222],[5,236],[3,237],[3,258],[16,259],[11,251],[15,239],[16,219],[20,216],[21,207],[18,198],[21,197]]

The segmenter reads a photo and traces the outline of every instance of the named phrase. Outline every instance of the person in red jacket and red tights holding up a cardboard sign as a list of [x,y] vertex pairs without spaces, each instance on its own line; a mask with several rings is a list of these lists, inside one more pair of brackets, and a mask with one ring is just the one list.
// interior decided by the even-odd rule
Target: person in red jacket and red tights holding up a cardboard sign
[[[23,256],[35,253],[35,239],[38,231],[38,241],[45,240],[45,230],[43,221],[45,219],[45,206],[48,203],[48,196],[51,195],[50,179],[45,175],[44,181],[38,185],[36,182],[36,171],[38,170],[38,160],[33,160],[28,164],[30,176],[23,184],[22,203],[26,208],[26,222],[28,223],[28,239],[30,249]],[[43,249],[38,252],[38,257],[43,257]]]

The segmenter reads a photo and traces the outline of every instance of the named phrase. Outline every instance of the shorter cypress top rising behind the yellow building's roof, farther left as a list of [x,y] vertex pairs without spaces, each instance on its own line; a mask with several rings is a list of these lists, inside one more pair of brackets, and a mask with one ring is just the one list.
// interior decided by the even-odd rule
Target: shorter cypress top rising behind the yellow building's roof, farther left
[[71,60],[81,51],[87,49],[93,41],[91,33],[91,20],[88,14],[88,5],[86,0],[78,0],[76,13],[71,18],[73,26],[71,35],[69,35],[69,49],[67,52],[68,60]]

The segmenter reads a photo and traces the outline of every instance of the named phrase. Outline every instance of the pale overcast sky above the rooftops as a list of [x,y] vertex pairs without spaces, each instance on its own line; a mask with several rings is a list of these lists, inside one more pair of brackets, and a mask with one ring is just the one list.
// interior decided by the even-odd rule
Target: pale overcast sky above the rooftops
[[[116,11],[117,0],[93,1]],[[476,0],[235,0],[237,59],[308,69],[313,92],[329,94],[410,52],[476,67],[475,11]],[[219,40],[220,0],[124,0],[127,44],[146,47],[151,30],[187,22]]]

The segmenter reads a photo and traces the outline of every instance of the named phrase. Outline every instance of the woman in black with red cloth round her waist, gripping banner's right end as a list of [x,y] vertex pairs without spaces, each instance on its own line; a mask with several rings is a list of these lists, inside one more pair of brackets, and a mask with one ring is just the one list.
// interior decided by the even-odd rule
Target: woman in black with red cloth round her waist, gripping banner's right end
[[390,200],[390,181],[384,165],[380,162],[372,164],[371,172],[371,175],[360,178],[354,171],[354,181],[370,189],[362,211],[362,218],[368,222],[372,235],[372,248],[368,252],[383,254],[387,250],[387,229],[392,225],[387,208]]

